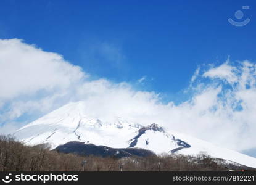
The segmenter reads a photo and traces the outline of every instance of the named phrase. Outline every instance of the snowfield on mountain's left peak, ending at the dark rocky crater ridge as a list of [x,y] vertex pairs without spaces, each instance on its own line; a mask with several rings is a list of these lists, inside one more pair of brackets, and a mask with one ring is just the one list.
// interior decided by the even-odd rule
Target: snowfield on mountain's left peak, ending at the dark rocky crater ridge
[[88,117],[83,102],[70,103],[15,131],[25,144],[49,143],[52,149],[68,141],[83,141],[109,147],[128,147],[141,125],[114,117],[111,122]]

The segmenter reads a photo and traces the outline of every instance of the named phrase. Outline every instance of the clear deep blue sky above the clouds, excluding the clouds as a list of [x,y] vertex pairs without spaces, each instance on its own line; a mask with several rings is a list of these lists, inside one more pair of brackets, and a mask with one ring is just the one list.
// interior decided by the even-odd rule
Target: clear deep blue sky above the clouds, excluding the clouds
[[[251,22],[227,21],[243,10]],[[95,78],[134,82],[175,95],[196,68],[255,60],[255,1],[1,1],[0,38],[57,52]],[[103,48],[102,48],[103,47]],[[107,47],[105,51],[104,47]],[[105,52],[104,52],[105,51]],[[177,98],[177,97],[176,97]],[[180,96],[181,98],[181,96]],[[178,101],[178,100],[177,100]]]

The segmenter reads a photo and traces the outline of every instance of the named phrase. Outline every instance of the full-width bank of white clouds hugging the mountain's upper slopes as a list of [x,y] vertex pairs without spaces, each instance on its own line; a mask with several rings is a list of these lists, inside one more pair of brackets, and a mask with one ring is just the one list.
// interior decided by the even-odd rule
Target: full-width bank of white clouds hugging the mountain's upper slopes
[[0,40],[0,133],[13,131],[70,101],[85,101],[89,115],[119,116],[142,125],[196,136],[234,150],[255,148],[256,65],[227,60],[199,67],[181,104],[132,84],[91,80],[61,55],[20,39]]

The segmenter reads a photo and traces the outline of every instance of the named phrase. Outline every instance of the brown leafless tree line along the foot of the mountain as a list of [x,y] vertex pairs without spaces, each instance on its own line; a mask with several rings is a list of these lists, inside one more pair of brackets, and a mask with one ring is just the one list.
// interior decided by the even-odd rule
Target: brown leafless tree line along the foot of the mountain
[[27,146],[12,136],[0,136],[0,171],[226,171],[207,154],[96,157],[64,154],[47,144]]

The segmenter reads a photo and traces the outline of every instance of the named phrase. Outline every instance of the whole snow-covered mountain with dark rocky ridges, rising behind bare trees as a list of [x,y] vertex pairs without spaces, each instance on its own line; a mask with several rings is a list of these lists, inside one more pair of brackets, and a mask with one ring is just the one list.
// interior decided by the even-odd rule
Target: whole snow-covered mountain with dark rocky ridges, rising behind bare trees
[[256,168],[256,158],[217,147],[176,131],[166,131],[156,123],[142,126],[120,117],[94,118],[86,115],[84,102],[64,105],[15,131],[25,144],[51,144],[52,149],[70,141],[112,148],[142,148],[155,154],[197,155],[207,152],[215,158]]

